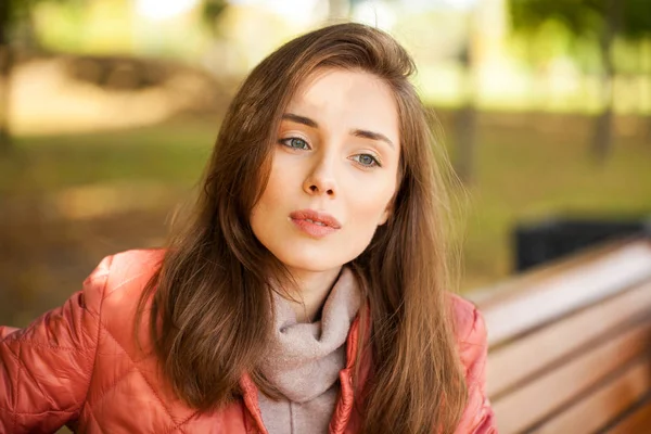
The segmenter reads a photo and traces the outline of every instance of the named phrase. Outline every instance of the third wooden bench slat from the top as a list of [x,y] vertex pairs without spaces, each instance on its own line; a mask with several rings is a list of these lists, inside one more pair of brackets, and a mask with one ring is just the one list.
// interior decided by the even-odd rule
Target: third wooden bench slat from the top
[[540,375],[518,391],[493,403],[499,432],[516,433],[567,405],[648,348],[651,324],[634,326],[622,334]]

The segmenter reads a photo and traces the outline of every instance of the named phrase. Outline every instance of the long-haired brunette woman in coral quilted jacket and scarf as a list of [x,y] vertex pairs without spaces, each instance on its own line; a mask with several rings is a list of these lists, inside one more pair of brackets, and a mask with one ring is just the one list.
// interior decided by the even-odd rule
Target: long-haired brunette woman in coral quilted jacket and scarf
[[2,432],[494,433],[412,72],[358,24],[264,60],[168,248],[1,329]]

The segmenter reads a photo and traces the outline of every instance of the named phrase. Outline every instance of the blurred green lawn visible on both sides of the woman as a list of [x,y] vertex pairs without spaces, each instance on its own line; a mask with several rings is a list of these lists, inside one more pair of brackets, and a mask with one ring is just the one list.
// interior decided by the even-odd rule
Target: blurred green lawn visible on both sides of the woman
[[[548,123],[549,128],[539,120],[481,124],[475,182],[468,188],[470,205],[465,218],[457,216],[465,228],[465,290],[510,273],[511,233],[520,221],[567,214],[608,218],[651,214],[651,144],[641,137],[618,137],[609,159],[598,165],[588,156],[587,119]],[[452,146],[445,118],[444,128]],[[216,133],[216,124],[192,122],[94,135],[21,137],[13,155],[0,158],[0,194],[47,195],[78,186],[138,182],[187,189],[203,170]]]

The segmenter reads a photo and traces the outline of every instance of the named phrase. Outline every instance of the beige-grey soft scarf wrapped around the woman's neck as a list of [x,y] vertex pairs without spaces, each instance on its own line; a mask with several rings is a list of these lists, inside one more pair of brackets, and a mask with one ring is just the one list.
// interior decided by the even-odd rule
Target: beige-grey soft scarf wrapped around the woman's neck
[[271,434],[324,433],[346,366],[346,339],[361,303],[357,280],[344,267],[321,319],[311,323],[297,322],[290,302],[273,297],[273,333],[260,371],[286,400],[275,403],[260,393],[263,420]]

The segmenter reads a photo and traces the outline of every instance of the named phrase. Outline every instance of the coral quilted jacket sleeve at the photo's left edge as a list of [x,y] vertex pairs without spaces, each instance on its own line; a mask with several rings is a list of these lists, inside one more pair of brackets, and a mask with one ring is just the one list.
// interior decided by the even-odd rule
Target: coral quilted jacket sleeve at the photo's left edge
[[51,433],[78,418],[94,365],[111,258],[25,329],[0,327],[0,433]]

